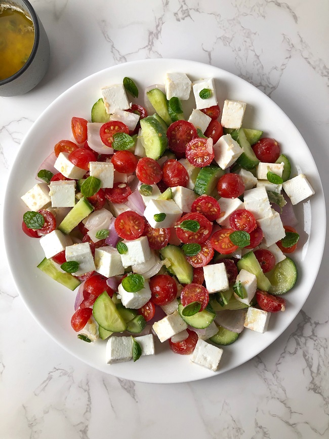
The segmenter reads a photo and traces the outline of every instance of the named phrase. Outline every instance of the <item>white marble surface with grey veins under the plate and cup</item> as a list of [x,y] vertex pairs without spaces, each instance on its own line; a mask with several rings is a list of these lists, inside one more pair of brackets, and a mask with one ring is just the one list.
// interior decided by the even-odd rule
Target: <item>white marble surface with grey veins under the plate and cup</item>
[[[20,141],[54,98],[102,68],[156,57],[212,63],[263,90],[304,136],[326,191],[325,0],[31,3],[49,35],[51,65],[30,93],[0,98],[1,205]],[[329,437],[327,247],[309,299],[276,342],[234,371],[180,385],[120,380],[64,352],[26,310],[1,254],[2,439]]]

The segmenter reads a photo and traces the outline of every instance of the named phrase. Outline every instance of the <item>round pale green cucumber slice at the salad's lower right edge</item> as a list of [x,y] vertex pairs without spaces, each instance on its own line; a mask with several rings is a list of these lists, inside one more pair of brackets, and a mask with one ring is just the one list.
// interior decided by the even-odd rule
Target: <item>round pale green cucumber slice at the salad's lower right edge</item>
[[298,272],[295,262],[290,258],[276,264],[274,270],[268,273],[272,284],[268,292],[271,294],[284,294],[292,289],[297,280]]

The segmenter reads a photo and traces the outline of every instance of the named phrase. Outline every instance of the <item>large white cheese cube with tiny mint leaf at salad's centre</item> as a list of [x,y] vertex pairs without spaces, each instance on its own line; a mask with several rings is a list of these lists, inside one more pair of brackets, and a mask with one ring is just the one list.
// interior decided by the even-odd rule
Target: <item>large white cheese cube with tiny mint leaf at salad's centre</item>
[[[165,213],[163,221],[155,221],[154,215]],[[144,216],[149,225],[154,229],[169,228],[175,226],[177,220],[182,216],[183,211],[177,206],[174,200],[150,200],[145,208]]]

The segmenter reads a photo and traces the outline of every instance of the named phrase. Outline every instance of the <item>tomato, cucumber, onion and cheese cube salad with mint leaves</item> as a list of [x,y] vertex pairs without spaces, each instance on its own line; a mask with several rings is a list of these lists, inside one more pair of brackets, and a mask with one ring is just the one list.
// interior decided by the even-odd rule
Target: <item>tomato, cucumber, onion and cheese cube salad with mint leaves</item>
[[275,139],[242,128],[245,102],[220,108],[213,78],[169,72],[144,106],[128,98],[139,92],[126,77],[101,90],[91,122],[72,118],[72,140],[21,197],[22,230],[45,252],[37,267],[76,290],[72,330],[106,340],[108,364],[153,355],[159,340],[216,371],[220,346],[284,311],[298,276],[293,205],[314,191]]

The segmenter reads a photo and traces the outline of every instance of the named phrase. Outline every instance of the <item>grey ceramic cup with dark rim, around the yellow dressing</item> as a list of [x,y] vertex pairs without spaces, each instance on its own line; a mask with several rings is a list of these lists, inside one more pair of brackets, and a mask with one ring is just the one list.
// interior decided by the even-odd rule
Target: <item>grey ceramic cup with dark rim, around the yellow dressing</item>
[[49,65],[49,40],[42,22],[27,0],[1,2],[1,5],[4,4],[22,9],[34,26],[34,44],[28,60],[14,75],[0,81],[0,96],[17,96],[31,90],[45,76]]

